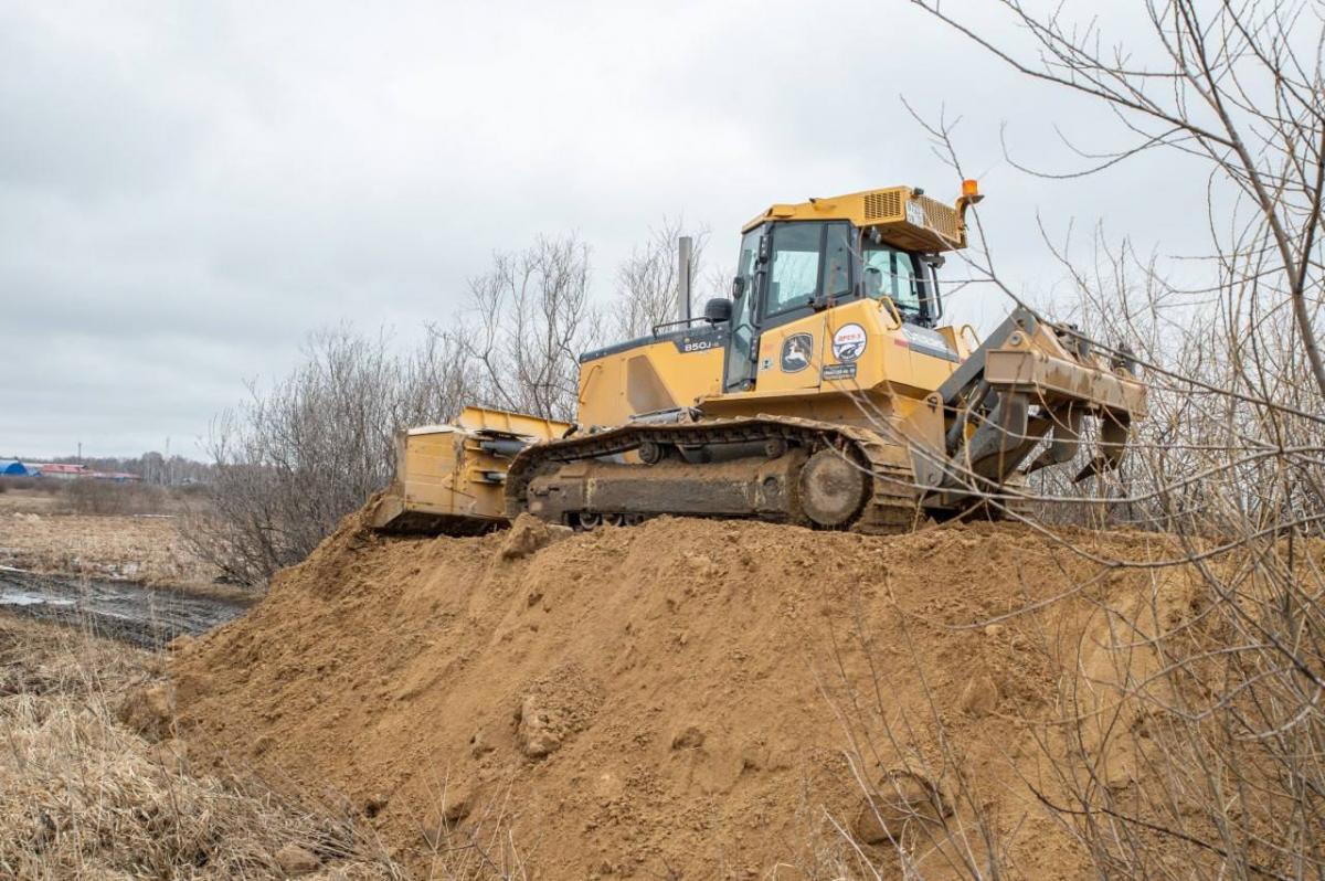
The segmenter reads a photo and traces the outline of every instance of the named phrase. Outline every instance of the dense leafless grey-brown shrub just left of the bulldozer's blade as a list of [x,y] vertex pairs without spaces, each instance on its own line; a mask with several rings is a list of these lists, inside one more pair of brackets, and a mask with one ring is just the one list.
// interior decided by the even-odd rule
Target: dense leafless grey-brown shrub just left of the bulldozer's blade
[[398,355],[386,335],[339,329],[314,335],[305,358],[212,424],[215,474],[186,537],[237,583],[303,559],[387,485],[400,428],[444,421],[465,401],[465,362],[447,335]]

